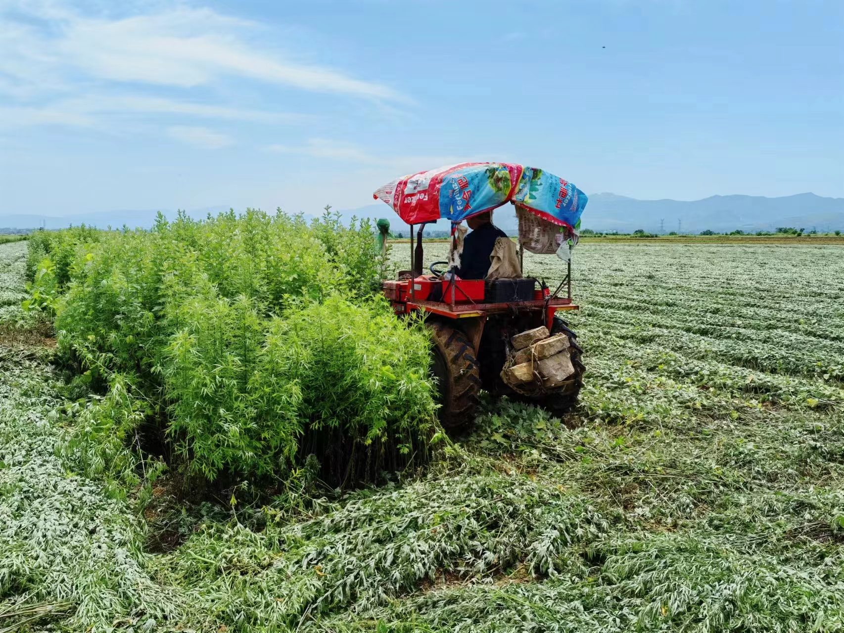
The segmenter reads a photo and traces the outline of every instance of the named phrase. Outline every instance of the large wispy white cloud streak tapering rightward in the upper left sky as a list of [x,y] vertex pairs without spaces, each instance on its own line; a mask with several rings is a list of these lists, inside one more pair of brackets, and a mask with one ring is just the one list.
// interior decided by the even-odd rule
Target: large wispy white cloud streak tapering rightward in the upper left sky
[[[226,76],[378,100],[383,84],[294,62],[246,44],[256,24],[205,8],[163,8],[122,19],[86,17],[50,3],[0,5],[0,73],[23,95],[67,87],[68,76],[191,88]],[[24,14],[24,19],[16,16]],[[7,81],[8,83],[8,81]],[[2,87],[2,84],[0,84]]]

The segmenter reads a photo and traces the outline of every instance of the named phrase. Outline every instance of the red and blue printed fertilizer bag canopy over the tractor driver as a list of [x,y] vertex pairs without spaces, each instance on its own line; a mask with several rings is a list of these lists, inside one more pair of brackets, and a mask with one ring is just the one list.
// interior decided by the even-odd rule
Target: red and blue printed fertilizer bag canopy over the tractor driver
[[515,163],[461,163],[403,176],[373,194],[408,225],[444,218],[460,222],[511,202],[577,230],[587,197],[559,176]]

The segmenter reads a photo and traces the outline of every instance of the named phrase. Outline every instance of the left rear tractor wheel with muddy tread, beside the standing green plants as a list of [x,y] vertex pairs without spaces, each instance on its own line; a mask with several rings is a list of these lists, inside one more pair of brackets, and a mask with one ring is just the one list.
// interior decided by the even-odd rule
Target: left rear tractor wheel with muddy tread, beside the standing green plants
[[443,322],[430,322],[430,371],[436,377],[440,424],[446,430],[470,425],[478,407],[480,374],[474,348],[466,334]]

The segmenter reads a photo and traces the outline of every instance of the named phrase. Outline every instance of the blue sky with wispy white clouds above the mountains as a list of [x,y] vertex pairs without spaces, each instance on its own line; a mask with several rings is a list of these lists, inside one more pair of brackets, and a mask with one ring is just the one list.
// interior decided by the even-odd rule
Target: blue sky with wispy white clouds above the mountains
[[358,208],[461,160],[844,197],[842,41],[841,0],[0,0],[0,216]]

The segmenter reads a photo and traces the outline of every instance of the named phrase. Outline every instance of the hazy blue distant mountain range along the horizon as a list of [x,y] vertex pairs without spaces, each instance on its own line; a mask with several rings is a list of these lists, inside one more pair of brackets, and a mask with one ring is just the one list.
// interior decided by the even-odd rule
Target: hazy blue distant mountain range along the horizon
[[[228,207],[208,207],[188,212],[192,218],[218,214]],[[162,210],[168,219],[176,211]],[[121,210],[98,214],[68,214],[65,216],[0,214],[0,232],[3,229],[60,229],[68,225],[93,225],[113,228],[149,228],[155,221],[156,210]],[[306,214],[312,217],[321,215]],[[393,230],[407,230],[407,226],[383,203],[341,211],[344,220],[358,218],[387,218]],[[495,210],[495,224],[503,230],[514,232],[516,214],[510,205]],[[442,220],[431,229],[447,229]],[[786,197],[762,196],[711,196],[690,202],[679,200],[636,200],[614,193],[593,193],[583,213],[582,228],[598,231],[632,233],[642,229],[649,233],[679,231],[699,233],[714,230],[719,233],[741,229],[745,232],[774,230],[778,226],[793,226],[806,230],[844,230],[844,198],[820,197],[814,193],[799,193]]]

